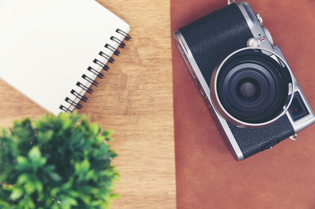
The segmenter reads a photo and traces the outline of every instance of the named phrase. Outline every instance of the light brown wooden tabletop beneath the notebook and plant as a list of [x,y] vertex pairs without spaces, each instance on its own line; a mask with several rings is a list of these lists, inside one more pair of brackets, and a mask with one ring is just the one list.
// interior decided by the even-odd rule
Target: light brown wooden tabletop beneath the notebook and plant
[[[170,1],[98,2],[130,24],[132,36],[79,111],[116,131],[121,197],[111,208],[176,208]],[[0,125],[45,114],[1,80],[0,90]]]

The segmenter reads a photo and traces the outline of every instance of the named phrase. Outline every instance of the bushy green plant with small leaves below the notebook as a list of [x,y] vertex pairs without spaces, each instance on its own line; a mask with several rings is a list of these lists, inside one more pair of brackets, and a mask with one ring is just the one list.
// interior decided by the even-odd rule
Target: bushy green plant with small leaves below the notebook
[[0,133],[0,208],[109,208],[119,173],[112,130],[60,113],[15,121]]

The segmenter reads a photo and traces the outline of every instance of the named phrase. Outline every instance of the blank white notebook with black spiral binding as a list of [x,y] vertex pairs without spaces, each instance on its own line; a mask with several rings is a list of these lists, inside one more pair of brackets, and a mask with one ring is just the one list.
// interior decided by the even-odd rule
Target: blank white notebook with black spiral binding
[[1,0],[0,78],[54,114],[72,112],[129,30],[94,0]]

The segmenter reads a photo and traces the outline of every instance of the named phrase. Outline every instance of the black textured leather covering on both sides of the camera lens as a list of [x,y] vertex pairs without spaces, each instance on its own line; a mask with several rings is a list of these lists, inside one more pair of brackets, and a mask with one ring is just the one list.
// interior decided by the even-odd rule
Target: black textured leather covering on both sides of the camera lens
[[[204,16],[179,31],[208,86],[215,66],[232,52],[247,47],[247,41],[253,37],[235,4]],[[270,148],[295,133],[286,115],[272,125],[259,129],[240,128],[227,123],[244,158]]]

